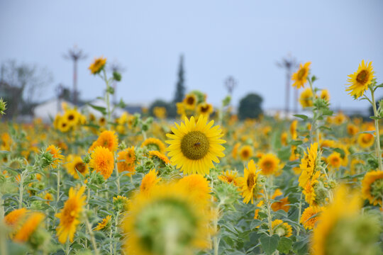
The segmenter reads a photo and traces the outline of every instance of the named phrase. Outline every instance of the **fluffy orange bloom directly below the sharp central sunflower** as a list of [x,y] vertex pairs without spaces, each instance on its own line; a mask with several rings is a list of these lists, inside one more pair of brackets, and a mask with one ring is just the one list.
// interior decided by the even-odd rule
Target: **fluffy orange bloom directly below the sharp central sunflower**
[[190,196],[192,196],[195,200],[199,200],[201,203],[203,201],[208,203],[211,199],[209,181],[204,178],[204,176],[201,176],[201,174],[184,176],[178,181],[178,183],[189,191]]

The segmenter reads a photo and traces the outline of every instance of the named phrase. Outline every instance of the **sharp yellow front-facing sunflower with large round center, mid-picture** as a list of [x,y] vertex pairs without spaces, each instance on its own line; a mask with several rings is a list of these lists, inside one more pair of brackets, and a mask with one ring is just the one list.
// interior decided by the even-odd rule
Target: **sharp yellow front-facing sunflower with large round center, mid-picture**
[[166,142],[170,145],[170,161],[181,168],[184,174],[209,174],[214,167],[213,162],[219,163],[218,157],[224,157],[223,147],[225,143],[221,128],[217,125],[212,128],[214,121],[207,123],[207,118],[200,115],[195,121],[184,118],[184,123],[172,128],[173,134],[167,134],[171,140]]

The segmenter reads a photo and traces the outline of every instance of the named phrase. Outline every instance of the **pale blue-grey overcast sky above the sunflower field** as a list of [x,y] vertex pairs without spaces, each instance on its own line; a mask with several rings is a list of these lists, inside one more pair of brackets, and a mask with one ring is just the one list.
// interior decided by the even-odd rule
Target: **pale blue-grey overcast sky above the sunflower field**
[[[234,103],[249,92],[265,108],[284,107],[284,71],[276,62],[291,53],[311,61],[316,85],[331,103],[366,108],[345,92],[347,75],[370,60],[383,82],[383,1],[6,1],[0,0],[0,62],[15,59],[47,67],[55,86],[72,86],[72,62],[62,55],[78,45],[83,98],[101,96],[104,84],[89,74],[94,57],[118,61],[126,72],[118,97],[127,103],[171,100],[179,55],[187,90],[199,89],[218,106],[223,81],[238,79]],[[383,95],[383,93],[380,93]]]

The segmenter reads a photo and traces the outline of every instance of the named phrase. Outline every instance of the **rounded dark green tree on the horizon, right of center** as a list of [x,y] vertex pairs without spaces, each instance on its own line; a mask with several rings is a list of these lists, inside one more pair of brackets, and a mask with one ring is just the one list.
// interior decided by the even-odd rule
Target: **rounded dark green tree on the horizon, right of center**
[[262,96],[258,94],[248,94],[242,98],[238,107],[238,117],[240,120],[245,120],[246,118],[258,118],[262,113],[262,101]]

